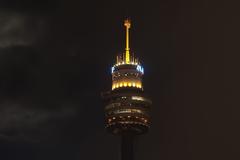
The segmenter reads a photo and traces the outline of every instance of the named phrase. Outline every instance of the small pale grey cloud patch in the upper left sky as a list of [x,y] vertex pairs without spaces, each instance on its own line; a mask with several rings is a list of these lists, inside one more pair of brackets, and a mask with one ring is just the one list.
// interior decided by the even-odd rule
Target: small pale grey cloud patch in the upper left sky
[[0,48],[33,45],[44,32],[44,21],[16,12],[0,12]]

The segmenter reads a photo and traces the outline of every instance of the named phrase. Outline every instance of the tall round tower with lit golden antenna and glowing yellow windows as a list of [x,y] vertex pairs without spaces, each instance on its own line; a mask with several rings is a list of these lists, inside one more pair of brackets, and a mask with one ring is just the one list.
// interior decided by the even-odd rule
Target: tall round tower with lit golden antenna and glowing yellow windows
[[142,77],[144,69],[130,52],[130,20],[124,21],[126,48],[117,55],[111,68],[112,89],[102,94],[105,104],[106,129],[122,137],[122,160],[133,160],[133,141],[136,135],[149,128],[151,100],[144,95]]

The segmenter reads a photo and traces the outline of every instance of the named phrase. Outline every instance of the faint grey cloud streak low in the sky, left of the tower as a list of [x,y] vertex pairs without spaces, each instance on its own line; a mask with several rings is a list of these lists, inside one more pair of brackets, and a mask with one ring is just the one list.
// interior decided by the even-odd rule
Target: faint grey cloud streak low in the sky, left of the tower
[[[55,132],[52,128],[56,123],[64,123],[63,119],[76,116],[76,109],[71,106],[59,106],[59,109],[42,109],[40,106],[31,107],[23,104],[1,104],[1,139],[22,141],[28,143],[40,143],[53,137]],[[51,131],[52,130],[52,131]],[[51,131],[51,132],[49,132]]]

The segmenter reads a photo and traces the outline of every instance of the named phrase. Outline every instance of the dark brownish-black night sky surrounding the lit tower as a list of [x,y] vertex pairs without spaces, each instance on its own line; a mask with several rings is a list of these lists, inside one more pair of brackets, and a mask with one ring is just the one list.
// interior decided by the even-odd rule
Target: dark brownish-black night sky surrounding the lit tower
[[137,160],[240,159],[239,5],[221,0],[0,1],[0,159],[119,160],[100,93],[142,61],[152,124]]

